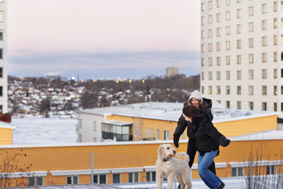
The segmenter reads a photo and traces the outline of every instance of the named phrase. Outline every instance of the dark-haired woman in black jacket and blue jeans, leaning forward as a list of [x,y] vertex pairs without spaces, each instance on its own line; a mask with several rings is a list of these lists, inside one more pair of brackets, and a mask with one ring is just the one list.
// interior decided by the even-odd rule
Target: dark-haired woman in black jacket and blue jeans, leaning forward
[[187,105],[183,108],[183,117],[192,123],[195,148],[198,151],[197,171],[200,178],[209,188],[224,188],[225,184],[212,171],[209,171],[208,166],[219,155],[219,145],[227,147],[230,140],[216,130],[205,111],[197,109],[194,105]]

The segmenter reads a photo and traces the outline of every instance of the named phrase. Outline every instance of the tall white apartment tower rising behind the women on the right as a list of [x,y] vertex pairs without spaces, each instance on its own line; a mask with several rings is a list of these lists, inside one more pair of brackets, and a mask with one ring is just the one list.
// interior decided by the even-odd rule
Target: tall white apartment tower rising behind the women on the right
[[283,1],[201,1],[203,96],[283,118]]

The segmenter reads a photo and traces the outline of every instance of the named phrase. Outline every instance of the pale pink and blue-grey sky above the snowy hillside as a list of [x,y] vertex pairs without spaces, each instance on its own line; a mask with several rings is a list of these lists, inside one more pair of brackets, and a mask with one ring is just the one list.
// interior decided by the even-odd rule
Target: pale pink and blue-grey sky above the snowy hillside
[[10,75],[200,73],[200,1],[9,0],[7,16]]

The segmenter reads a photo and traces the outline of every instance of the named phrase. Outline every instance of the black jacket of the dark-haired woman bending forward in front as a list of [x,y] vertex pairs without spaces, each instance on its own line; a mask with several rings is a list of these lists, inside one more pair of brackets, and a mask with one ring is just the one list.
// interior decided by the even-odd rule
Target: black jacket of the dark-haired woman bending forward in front
[[192,134],[195,137],[195,148],[203,155],[207,151],[219,149],[221,140],[226,137],[218,132],[205,111],[200,110],[200,115],[197,123],[192,125]]

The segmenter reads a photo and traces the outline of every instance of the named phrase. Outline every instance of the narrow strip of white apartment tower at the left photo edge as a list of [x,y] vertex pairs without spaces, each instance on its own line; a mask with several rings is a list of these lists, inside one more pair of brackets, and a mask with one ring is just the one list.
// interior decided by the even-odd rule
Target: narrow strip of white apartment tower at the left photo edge
[[0,113],[7,113],[7,1],[0,0]]

